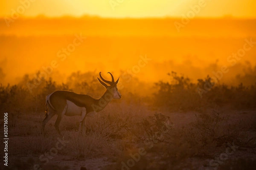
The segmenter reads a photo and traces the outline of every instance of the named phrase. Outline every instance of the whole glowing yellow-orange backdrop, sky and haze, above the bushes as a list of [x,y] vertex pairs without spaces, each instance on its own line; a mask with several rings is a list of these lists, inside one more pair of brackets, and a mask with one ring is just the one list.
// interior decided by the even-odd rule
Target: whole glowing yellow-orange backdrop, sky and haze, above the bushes
[[[110,5],[114,2],[117,6]],[[137,77],[147,81],[166,79],[176,71],[196,80],[230,65],[227,57],[243,47],[246,38],[256,41],[256,0],[9,0],[0,2],[0,83],[17,83],[24,76],[44,71],[67,48],[74,35],[87,37],[60,62],[52,74],[63,81],[76,71],[132,69],[141,55],[152,58]],[[23,5],[22,5],[23,4]],[[201,6],[200,8],[199,5]],[[24,7],[23,7],[24,6]],[[81,17],[182,17],[195,11],[194,19],[177,30],[181,18],[106,19]],[[18,20],[13,15],[26,18]],[[192,12],[193,13],[193,12]],[[242,19],[207,17],[233,16]],[[6,17],[11,17],[6,22]],[[21,18],[21,17],[20,17]],[[254,19],[244,19],[254,18]],[[243,74],[256,65],[256,47],[226,77]],[[245,65],[245,66],[241,66]],[[249,66],[248,66],[249,65]],[[11,69],[10,69],[11,68]],[[161,68],[161,70],[159,70]],[[231,69],[230,69],[231,70]]]

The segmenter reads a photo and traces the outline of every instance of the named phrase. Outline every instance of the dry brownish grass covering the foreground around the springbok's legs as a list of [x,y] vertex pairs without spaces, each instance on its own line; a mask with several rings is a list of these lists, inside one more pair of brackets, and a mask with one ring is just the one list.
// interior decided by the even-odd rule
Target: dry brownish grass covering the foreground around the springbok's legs
[[[79,116],[65,116],[61,122],[61,131],[68,143],[46,165],[42,164],[39,157],[55,147],[58,138],[62,138],[53,127],[56,117],[46,125],[47,135],[43,136],[41,119],[44,113],[21,114],[9,131],[15,134],[10,140],[12,147],[9,152],[16,153],[15,157],[30,155],[33,158],[16,160],[12,156],[10,161],[16,162],[12,164],[14,169],[38,163],[47,170],[67,170],[64,164],[57,166],[58,161],[78,161],[76,167],[79,167],[79,164],[85,166],[81,162],[88,159],[104,158],[108,166],[102,164],[100,169],[112,170],[121,169],[122,162],[127,162],[131,159],[130,154],[138,153],[143,147],[146,154],[131,169],[196,170],[203,165],[208,167],[207,160],[223,152],[228,142],[235,142],[244,148],[256,146],[252,113],[243,114],[244,120],[236,121],[225,112],[198,113],[197,117],[194,113],[186,113],[184,116],[194,116],[196,120],[186,126],[180,126],[177,120],[172,123],[168,114],[171,113],[162,114],[138,105],[113,102],[95,117],[87,118],[82,135],[77,131]],[[163,125],[170,127],[165,133],[161,133]],[[241,161],[239,166],[253,164],[253,161],[246,162]],[[230,159],[220,168],[234,166],[233,159]]]

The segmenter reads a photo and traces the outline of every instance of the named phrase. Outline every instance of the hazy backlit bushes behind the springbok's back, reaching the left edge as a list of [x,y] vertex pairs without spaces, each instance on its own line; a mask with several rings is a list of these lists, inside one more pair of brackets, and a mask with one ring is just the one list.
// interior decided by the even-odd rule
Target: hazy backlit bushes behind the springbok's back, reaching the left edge
[[[40,75],[40,71],[36,73]],[[85,75],[85,76],[84,76]],[[0,105],[2,112],[38,113],[45,111],[45,97],[56,90],[69,90],[78,93],[90,93],[97,95],[102,90],[99,83],[93,80],[93,73],[73,73],[67,83],[57,84],[52,78],[42,80],[39,85],[34,85],[34,78],[25,75],[17,85],[0,85]],[[74,81],[76,80],[76,81]],[[32,88],[28,88],[28,84]],[[73,88],[73,89],[71,89]],[[96,93],[96,94],[95,94]]]

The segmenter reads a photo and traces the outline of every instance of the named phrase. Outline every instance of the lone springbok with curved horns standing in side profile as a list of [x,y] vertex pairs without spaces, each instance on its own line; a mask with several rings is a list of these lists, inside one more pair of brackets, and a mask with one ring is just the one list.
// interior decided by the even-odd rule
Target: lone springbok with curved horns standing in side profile
[[[99,78],[97,79],[107,89],[99,99],[94,99],[87,94],[76,94],[72,91],[55,91],[52,94],[49,94],[46,97],[46,115],[42,122],[42,133],[44,133],[44,127],[47,122],[55,114],[57,114],[58,117],[54,127],[59,134],[59,125],[64,115],[81,116],[81,121],[79,123],[79,131],[81,132],[81,127],[84,127],[86,116],[93,116],[97,112],[102,111],[112,99],[121,99],[122,96],[116,87],[119,78],[115,82],[113,75],[110,72],[108,73],[111,75],[111,81],[103,79],[101,72],[99,72],[99,77],[102,80]],[[105,82],[109,85],[105,84]]]

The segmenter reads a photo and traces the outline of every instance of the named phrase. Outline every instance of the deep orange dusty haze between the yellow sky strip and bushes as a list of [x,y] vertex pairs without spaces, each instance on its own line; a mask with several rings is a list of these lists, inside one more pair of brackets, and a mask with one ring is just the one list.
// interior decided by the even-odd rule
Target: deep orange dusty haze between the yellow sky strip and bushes
[[[95,17],[36,17],[18,19],[6,26],[0,22],[0,81],[17,83],[24,76],[44,71],[53,60],[58,67],[51,77],[64,82],[76,71],[112,71],[120,75],[138,65],[141,56],[152,60],[135,74],[149,82],[169,78],[175,71],[196,81],[212,76],[222,65],[230,66],[227,58],[243,48],[246,39],[256,41],[256,20],[194,19],[180,32],[172,19],[103,19]],[[76,35],[84,42],[61,61]],[[231,82],[244,75],[256,63],[256,47],[247,51],[237,65],[221,79]]]

